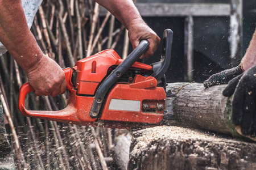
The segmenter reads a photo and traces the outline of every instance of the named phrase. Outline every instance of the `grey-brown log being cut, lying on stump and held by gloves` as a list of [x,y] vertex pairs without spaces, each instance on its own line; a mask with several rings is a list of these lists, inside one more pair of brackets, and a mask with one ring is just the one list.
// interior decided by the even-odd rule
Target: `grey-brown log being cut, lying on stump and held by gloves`
[[223,134],[252,139],[243,136],[240,127],[232,123],[232,97],[225,97],[222,91],[226,85],[205,88],[201,83],[170,83],[167,90],[176,94],[172,97],[174,121],[169,125],[185,128],[205,129]]

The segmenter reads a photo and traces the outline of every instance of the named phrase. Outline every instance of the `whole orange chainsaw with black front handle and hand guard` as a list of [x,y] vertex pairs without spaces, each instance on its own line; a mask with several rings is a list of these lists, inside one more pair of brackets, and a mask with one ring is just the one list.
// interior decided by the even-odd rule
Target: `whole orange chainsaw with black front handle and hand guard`
[[164,30],[161,59],[151,65],[137,62],[149,45],[142,40],[125,59],[106,49],[64,69],[67,107],[60,111],[28,111],[25,98],[34,89],[24,83],[19,111],[24,116],[104,128],[160,125],[171,117],[164,73],[170,64],[172,35],[171,29]]

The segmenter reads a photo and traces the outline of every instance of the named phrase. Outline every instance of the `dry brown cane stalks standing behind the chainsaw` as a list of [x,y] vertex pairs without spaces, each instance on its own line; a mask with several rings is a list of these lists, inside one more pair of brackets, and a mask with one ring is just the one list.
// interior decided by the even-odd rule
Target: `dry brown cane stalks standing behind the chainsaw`
[[[116,28],[114,16],[109,12],[100,16],[99,11],[93,0],[43,1],[31,32],[48,57],[61,67],[72,67],[77,60],[104,48],[114,49],[123,39],[124,27]],[[0,97],[16,169],[118,168],[112,141],[119,130],[24,117],[17,106],[19,88],[27,78],[9,53],[0,57],[0,73]],[[38,97],[30,93],[26,108],[63,109],[65,95]]]

